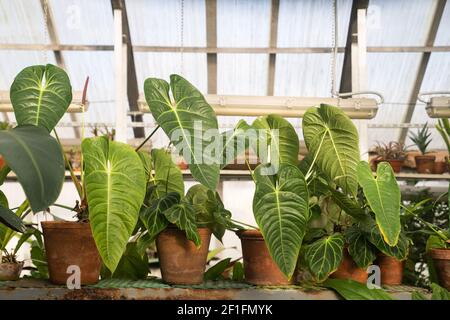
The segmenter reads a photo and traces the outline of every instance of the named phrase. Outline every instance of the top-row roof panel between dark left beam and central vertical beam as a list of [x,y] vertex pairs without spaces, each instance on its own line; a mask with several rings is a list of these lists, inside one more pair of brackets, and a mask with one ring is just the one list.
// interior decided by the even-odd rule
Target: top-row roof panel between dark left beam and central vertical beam
[[[126,6],[134,45],[181,45],[180,0],[127,0]],[[184,1],[184,46],[206,46],[205,20],[205,1]]]

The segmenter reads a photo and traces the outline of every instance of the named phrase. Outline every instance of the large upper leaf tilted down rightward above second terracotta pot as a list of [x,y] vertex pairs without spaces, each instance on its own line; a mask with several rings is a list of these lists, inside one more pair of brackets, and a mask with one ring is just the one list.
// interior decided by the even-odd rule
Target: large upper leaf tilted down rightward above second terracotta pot
[[[174,103],[170,100],[172,90]],[[179,75],[170,76],[170,87],[165,80],[148,78],[144,83],[147,104],[156,122],[161,126],[178,152],[189,164],[192,176],[215,190],[220,174],[220,150],[208,152],[211,141],[220,139],[214,109],[192,84]],[[214,148],[213,148],[214,149]]]

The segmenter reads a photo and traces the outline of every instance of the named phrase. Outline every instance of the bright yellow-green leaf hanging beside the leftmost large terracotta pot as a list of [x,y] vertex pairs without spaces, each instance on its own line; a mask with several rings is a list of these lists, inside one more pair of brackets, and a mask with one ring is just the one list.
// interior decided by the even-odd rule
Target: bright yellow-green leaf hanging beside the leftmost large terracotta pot
[[85,139],[81,148],[92,232],[104,264],[114,272],[144,200],[144,168],[133,148],[105,137]]

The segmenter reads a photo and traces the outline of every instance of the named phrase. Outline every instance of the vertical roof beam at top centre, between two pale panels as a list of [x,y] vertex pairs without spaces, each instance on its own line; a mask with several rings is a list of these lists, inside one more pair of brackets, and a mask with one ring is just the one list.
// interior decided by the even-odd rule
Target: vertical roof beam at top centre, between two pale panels
[[[217,47],[217,0],[206,0],[206,45]],[[206,54],[208,68],[208,93],[217,93],[217,52]]]

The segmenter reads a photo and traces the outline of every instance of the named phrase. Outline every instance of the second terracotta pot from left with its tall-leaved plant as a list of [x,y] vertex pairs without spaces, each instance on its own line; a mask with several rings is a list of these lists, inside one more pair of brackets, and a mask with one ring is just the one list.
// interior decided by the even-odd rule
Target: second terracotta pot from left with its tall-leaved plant
[[141,220],[147,238],[156,237],[163,280],[198,284],[203,281],[211,233],[220,240],[225,229],[237,228],[216,192],[221,154],[206,152],[210,144],[206,135],[219,138],[217,118],[203,95],[178,75],[170,76],[170,84],[148,78],[144,92],[158,128],[164,130],[201,184],[184,196],[181,171],[170,154],[158,149],[152,150],[151,156],[141,154],[147,159],[147,168],[154,169],[154,174],[147,170]]

